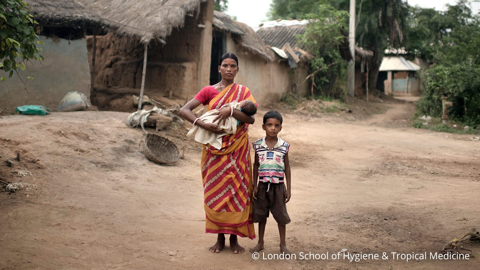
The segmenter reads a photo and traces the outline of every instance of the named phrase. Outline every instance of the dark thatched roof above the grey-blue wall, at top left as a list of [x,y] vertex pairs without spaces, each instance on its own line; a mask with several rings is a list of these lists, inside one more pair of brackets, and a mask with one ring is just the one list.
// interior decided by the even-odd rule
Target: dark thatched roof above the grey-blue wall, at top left
[[54,27],[101,27],[101,19],[76,0],[26,0],[40,25]]

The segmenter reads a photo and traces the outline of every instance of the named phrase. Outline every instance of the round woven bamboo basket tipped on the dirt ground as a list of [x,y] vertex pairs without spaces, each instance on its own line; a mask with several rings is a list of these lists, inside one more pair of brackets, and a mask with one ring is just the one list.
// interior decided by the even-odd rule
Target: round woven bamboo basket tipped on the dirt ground
[[167,138],[155,134],[144,135],[145,157],[160,164],[177,162],[180,152],[177,146]]

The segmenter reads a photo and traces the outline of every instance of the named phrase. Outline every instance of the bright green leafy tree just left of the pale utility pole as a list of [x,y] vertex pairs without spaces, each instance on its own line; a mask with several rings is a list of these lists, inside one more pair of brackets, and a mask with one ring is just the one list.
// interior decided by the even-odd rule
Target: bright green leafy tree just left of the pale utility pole
[[297,38],[302,47],[314,56],[309,66],[312,89],[314,85],[319,95],[343,98],[348,63],[342,59],[339,46],[345,38],[342,33],[348,31],[348,12],[320,5],[317,13],[306,14],[306,18],[310,20],[305,32]]

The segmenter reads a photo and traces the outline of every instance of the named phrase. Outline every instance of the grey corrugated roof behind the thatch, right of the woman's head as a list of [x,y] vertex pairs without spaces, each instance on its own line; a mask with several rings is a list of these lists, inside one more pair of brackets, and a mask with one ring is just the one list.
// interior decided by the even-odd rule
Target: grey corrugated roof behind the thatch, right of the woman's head
[[295,48],[295,46],[297,46],[297,38],[295,35],[303,34],[303,32],[305,32],[305,25],[298,24],[268,27],[262,26],[257,30],[257,34],[262,37],[265,45],[280,49],[283,48],[287,42],[292,48]]

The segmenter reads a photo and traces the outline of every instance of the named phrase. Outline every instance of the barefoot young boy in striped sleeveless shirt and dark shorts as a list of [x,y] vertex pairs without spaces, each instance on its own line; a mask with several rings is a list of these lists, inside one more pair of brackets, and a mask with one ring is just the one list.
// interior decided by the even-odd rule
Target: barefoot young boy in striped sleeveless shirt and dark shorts
[[[265,225],[269,212],[278,223],[280,233],[280,251],[289,254],[285,243],[286,225],[290,222],[286,203],[290,200],[290,164],[288,148],[290,145],[278,138],[282,130],[282,116],[278,111],[270,110],[264,115],[262,128],[265,137],[253,143],[255,162],[253,164],[253,222],[258,222],[258,244],[250,252],[264,248]],[[257,186],[258,180],[258,186]],[[287,188],[285,184],[287,183]]]

